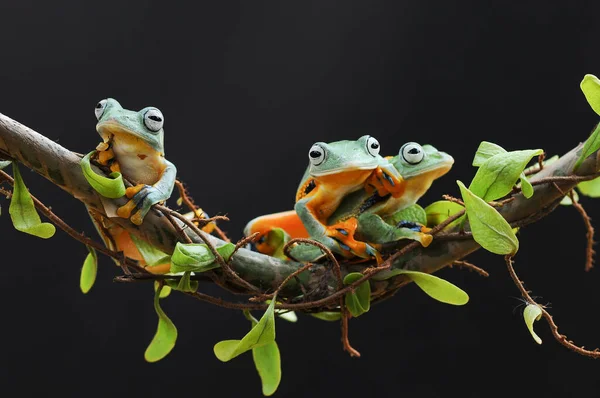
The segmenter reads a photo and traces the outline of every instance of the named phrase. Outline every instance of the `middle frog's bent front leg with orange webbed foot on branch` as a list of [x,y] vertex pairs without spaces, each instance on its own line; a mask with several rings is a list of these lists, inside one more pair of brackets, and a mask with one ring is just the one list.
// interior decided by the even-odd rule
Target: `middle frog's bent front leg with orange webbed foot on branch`
[[375,248],[354,239],[354,231],[356,230],[355,218],[327,226],[317,218],[317,212],[312,208],[310,198],[296,202],[294,209],[304,223],[310,237],[324,244],[333,252],[339,253],[344,257],[355,255],[362,258],[379,258],[379,252]]

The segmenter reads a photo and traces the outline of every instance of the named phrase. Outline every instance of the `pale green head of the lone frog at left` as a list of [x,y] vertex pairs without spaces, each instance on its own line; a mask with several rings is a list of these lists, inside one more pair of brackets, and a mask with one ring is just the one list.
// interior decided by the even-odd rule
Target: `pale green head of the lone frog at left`
[[157,108],[146,107],[138,112],[130,111],[123,109],[117,100],[107,98],[98,102],[94,111],[98,119],[96,130],[104,142],[116,135],[126,135],[141,140],[164,155],[165,118]]

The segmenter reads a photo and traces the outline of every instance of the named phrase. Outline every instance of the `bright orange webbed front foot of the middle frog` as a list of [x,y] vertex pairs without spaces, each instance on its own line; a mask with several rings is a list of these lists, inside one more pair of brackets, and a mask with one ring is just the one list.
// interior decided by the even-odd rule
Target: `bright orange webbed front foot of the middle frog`
[[358,241],[354,238],[354,233],[358,227],[358,221],[352,217],[346,221],[341,221],[325,228],[326,238],[320,240],[329,249],[342,254],[344,257],[355,255],[361,258],[375,257],[377,262],[381,262],[381,256],[377,249],[368,243]]

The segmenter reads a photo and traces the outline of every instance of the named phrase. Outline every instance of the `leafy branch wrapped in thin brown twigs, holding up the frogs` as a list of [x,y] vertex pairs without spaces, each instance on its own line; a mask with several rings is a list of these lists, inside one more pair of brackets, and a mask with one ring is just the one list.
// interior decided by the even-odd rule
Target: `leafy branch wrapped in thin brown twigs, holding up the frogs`
[[[600,115],[600,80],[586,75],[581,88],[592,109]],[[460,197],[445,195],[444,200],[424,209],[417,206],[411,212],[415,221],[431,228],[433,242],[427,247],[418,241],[389,242],[383,245],[381,262],[338,258],[310,239],[282,242],[281,249],[289,260],[250,251],[246,245],[256,236],[232,243],[218,228],[218,223],[226,222],[227,218],[205,218],[181,181],[176,182],[176,187],[178,205],[183,210],[154,205],[139,226],[125,218],[109,217],[107,207],[120,207],[127,202],[123,193],[106,196],[103,192],[103,185],[115,181],[114,175],[107,175],[109,170],[2,114],[0,194],[10,200],[9,213],[17,230],[47,239],[58,227],[88,247],[89,255],[81,270],[84,293],[94,284],[97,253],[111,257],[120,266],[122,274],[115,277],[116,282],[154,285],[154,307],[159,321],[145,352],[150,362],[164,358],[177,339],[177,328],[160,307],[161,298],[171,290],[243,312],[250,321],[250,331],[240,340],[218,342],[213,350],[222,361],[251,351],[263,393],[271,395],[281,379],[275,316],[295,321],[295,313],[302,312],[326,321],[339,321],[343,348],[350,355],[359,356],[348,335],[351,318],[363,316],[371,304],[390,298],[410,282],[439,301],[465,304],[468,296],[462,289],[431,274],[457,265],[487,276],[484,270],[463,260],[479,248],[505,257],[508,272],[527,303],[523,316],[536,342],[541,340],[533,331],[533,323],[543,317],[559,343],[581,355],[600,357],[597,349],[584,349],[558,331],[550,313],[534,301],[513,267],[519,250],[516,233],[523,233],[524,227],[549,215],[562,203],[572,205],[583,217],[582,230],[586,231],[587,239],[585,270],[592,268],[593,227],[577,192],[600,197],[599,149],[600,125],[585,143],[560,157],[548,158],[541,149],[506,151],[482,142],[473,160],[477,167],[475,177],[468,186],[457,182]],[[528,167],[532,160],[534,164]],[[12,176],[7,173],[10,164]],[[90,211],[110,218],[130,233],[146,264],[70,227],[27,190],[19,165],[36,171],[83,202]],[[119,183],[123,187],[131,185],[126,179]],[[47,222],[42,222],[40,214]],[[296,245],[315,246],[324,256],[308,263],[294,261],[290,249]],[[168,273],[158,274],[148,268],[165,261],[171,264]],[[239,299],[227,301],[208,295],[202,292],[205,283],[214,283]],[[255,310],[263,312],[260,319],[251,314]]]

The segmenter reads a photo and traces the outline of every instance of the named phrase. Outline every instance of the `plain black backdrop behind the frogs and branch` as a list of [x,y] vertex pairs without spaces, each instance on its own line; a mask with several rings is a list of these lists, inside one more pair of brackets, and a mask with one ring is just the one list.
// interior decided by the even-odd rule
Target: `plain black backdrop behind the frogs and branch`
[[[598,117],[579,82],[600,74],[600,3],[501,1],[14,1],[0,3],[0,112],[69,149],[98,142],[93,108],[117,98],[160,108],[166,154],[210,214],[239,238],[249,219],[293,206],[315,141],[371,134],[384,154],[407,141],[455,157],[422,203],[458,195],[482,140],[562,154]],[[94,235],[83,205],[25,171],[34,194]],[[597,202],[582,203],[600,220]],[[251,356],[219,362],[239,338],[237,312],[179,294],[163,307],[179,328],[157,364],[143,352],[156,328],[152,289],[112,283],[101,258],[79,291],[86,249],[64,233],[17,231],[0,204],[0,385],[7,396],[260,396]],[[577,343],[600,346],[598,269],[585,273],[585,230],[560,207],[521,231],[516,268]],[[470,260],[491,277],[445,269],[470,302],[453,307],[408,286],[339,326],[278,321],[283,380],[276,396],[600,396],[599,363],[529,336],[503,260]],[[209,293],[221,294],[213,288]]]

